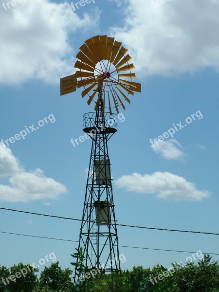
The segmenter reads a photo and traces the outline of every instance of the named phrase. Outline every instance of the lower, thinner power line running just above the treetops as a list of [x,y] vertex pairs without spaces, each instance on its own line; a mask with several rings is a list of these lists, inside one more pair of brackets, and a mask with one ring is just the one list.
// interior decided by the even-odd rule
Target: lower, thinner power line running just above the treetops
[[[77,242],[77,243],[79,242],[78,240],[54,238],[54,237],[43,237],[43,236],[36,236],[36,235],[27,235],[27,234],[20,234],[20,233],[4,232],[4,231],[0,231],[0,233],[19,235],[19,236],[26,236],[26,237],[37,237],[37,238],[44,238],[44,239],[52,239],[52,240],[71,241],[71,242]],[[103,243],[100,243],[100,244],[103,245]],[[109,244],[107,244],[107,245],[109,245]],[[119,245],[119,247],[135,248],[135,249],[146,249],[146,250],[163,251],[163,252],[191,253],[191,254],[197,253],[197,252],[191,252],[191,251],[177,251],[177,250],[167,250],[167,249],[149,248],[149,247],[140,247],[140,246],[128,246],[128,245]],[[209,255],[219,256],[219,254],[214,254],[214,253],[202,253],[202,254],[205,254],[205,255],[209,254]]]

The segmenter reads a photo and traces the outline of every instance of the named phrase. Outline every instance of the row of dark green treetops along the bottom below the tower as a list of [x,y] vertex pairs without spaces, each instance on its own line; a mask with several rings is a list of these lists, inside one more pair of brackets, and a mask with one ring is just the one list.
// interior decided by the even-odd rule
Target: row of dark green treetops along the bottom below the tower
[[[76,258],[72,263],[77,267],[76,276],[82,275],[83,279],[85,271],[90,271],[84,265],[83,250],[77,249],[72,256]],[[76,292],[219,292],[219,263],[212,261],[211,256],[205,255],[196,265],[187,262],[184,266],[173,263],[172,266],[172,275],[162,265],[152,269],[139,266],[133,267],[131,271],[123,271],[118,278],[115,274],[105,275],[104,279],[90,277],[75,288],[71,281],[73,271],[69,268],[62,270],[58,262],[45,267],[39,280],[36,268],[19,263],[10,269],[0,266],[0,279],[5,280],[22,269],[27,271],[25,277],[14,278],[15,281],[9,278],[7,285],[1,281],[0,292],[72,292],[73,289]],[[161,275],[161,280],[158,275]]]

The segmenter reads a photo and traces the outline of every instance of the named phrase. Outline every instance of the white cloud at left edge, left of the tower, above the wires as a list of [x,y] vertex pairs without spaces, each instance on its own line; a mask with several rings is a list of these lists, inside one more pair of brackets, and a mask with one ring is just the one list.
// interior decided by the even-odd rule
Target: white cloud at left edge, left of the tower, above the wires
[[28,202],[57,199],[66,193],[66,187],[47,178],[39,168],[25,172],[11,150],[0,144],[0,175],[9,177],[9,184],[0,184],[0,201]]

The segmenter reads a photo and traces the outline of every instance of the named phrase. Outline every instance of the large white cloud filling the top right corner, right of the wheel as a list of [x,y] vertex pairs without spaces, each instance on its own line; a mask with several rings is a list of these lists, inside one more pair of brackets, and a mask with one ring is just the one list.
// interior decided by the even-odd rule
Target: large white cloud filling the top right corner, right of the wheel
[[[160,2],[160,1],[157,1]],[[141,75],[219,69],[219,0],[126,0],[123,25],[111,28]]]

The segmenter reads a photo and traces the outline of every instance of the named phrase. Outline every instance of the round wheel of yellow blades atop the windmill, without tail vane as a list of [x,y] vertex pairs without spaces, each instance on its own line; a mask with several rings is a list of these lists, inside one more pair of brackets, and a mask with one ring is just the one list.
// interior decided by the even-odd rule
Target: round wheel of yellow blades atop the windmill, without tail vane
[[130,103],[128,95],[141,92],[141,84],[132,82],[136,78],[132,72],[135,67],[129,63],[132,57],[114,37],[89,38],[76,57],[77,88],[84,87],[81,95],[89,96],[88,105],[94,102],[94,110],[101,106],[102,113],[109,110],[112,114],[112,109],[118,113],[120,106],[126,109],[124,101]]

